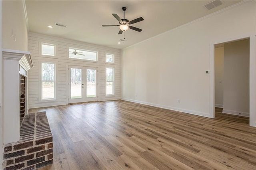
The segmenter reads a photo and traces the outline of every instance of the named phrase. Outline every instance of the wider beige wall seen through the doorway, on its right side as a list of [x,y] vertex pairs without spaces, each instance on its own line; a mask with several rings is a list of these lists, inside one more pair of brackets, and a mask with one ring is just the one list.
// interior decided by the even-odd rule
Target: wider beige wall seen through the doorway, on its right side
[[223,113],[249,117],[249,39],[224,43]]

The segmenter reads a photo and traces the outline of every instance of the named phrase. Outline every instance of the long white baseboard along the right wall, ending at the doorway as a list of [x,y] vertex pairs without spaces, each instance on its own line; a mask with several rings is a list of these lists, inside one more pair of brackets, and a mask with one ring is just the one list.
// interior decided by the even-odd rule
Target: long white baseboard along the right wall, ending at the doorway
[[158,105],[158,104],[154,104],[154,103],[148,103],[148,102],[144,102],[144,101],[138,101],[138,100],[132,100],[132,99],[126,99],[126,98],[122,98],[122,100],[210,118],[209,113],[203,113],[203,112],[192,111],[192,110],[187,110],[187,109],[182,109],[182,108],[177,108],[177,107],[170,107],[170,106],[165,106],[165,105]]

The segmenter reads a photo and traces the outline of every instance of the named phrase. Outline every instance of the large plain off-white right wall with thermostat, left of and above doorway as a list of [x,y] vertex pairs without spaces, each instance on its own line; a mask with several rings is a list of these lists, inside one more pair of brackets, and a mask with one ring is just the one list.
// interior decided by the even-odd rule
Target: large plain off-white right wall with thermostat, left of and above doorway
[[123,49],[122,98],[210,117],[209,44],[255,32],[255,12],[244,2]]

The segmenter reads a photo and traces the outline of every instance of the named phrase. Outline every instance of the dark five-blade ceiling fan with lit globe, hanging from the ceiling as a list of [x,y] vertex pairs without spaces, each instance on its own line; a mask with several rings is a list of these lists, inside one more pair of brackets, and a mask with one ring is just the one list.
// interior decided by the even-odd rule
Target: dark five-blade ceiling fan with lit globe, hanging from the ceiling
[[[122,10],[125,12],[126,7],[122,7]],[[102,25],[103,27],[119,26],[120,31],[118,32],[118,34],[122,34],[124,31],[128,30],[128,28],[130,28],[132,30],[135,30],[135,31],[138,31],[138,32],[142,31],[142,29],[140,29],[140,28],[130,26],[131,24],[134,24],[136,22],[143,21],[144,19],[142,17],[129,21],[125,18],[121,19],[117,14],[112,14],[112,15],[116,18],[116,20],[118,20],[119,25]]]

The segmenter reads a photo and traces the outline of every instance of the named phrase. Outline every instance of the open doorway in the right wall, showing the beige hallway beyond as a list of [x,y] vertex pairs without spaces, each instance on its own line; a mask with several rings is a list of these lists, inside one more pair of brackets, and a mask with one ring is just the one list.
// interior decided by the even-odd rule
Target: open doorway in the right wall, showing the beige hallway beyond
[[249,117],[249,59],[249,38],[214,45],[215,113]]

